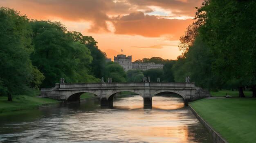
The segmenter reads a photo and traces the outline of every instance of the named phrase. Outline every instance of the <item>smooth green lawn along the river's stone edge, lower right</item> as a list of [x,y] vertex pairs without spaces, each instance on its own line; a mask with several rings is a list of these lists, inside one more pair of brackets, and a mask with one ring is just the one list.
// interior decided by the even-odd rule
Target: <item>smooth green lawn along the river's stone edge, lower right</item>
[[190,105],[229,143],[255,143],[256,98],[202,99]]

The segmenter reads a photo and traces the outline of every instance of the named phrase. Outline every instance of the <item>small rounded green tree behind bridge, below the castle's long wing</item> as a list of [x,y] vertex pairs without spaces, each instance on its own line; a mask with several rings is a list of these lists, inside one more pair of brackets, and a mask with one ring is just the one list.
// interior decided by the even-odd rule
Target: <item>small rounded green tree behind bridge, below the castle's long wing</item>
[[163,70],[162,69],[148,69],[146,71],[143,71],[143,74],[148,78],[150,77],[150,82],[157,82],[157,78],[162,79],[163,75]]

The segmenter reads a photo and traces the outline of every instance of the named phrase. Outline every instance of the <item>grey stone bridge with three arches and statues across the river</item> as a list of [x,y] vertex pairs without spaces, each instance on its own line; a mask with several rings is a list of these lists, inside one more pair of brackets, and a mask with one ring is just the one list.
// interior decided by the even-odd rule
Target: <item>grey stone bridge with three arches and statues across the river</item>
[[158,93],[177,93],[184,99],[184,104],[189,101],[210,94],[194,83],[177,82],[111,82],[111,83],[72,83],[56,84],[50,89],[41,89],[41,96],[52,98],[69,103],[80,102],[80,95],[83,93],[93,93],[101,101],[101,106],[113,106],[113,97],[121,91],[130,91],[141,95],[144,99],[144,106],[152,106],[152,97]]

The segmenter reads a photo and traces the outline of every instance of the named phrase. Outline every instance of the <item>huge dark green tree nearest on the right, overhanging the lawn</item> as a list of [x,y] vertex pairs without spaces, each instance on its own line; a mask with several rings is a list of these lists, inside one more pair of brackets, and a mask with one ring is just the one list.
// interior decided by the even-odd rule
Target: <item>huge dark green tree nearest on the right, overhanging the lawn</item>
[[243,87],[256,85],[256,17],[253,16],[256,2],[205,0],[204,3],[196,18],[204,22],[199,34],[216,57],[213,72],[224,83],[237,81],[239,97],[244,97]]

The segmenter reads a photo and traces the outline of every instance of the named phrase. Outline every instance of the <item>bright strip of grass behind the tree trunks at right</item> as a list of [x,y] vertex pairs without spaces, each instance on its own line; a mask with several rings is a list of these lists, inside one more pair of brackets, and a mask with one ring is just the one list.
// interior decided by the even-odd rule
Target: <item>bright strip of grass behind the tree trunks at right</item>
[[[238,91],[220,90],[217,92],[211,91],[211,96],[216,96],[216,97],[226,96],[226,93],[227,95],[234,96],[234,97],[238,97],[239,95]],[[252,91],[244,91],[244,94],[246,97],[252,97]]]

